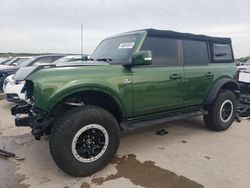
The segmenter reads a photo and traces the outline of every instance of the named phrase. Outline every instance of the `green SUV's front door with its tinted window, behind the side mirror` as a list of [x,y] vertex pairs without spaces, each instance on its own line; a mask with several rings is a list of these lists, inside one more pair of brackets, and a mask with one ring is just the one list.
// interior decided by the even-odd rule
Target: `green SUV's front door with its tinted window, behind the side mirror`
[[141,51],[151,50],[152,65],[132,67],[134,115],[176,109],[183,104],[183,66],[178,64],[178,40],[147,37]]

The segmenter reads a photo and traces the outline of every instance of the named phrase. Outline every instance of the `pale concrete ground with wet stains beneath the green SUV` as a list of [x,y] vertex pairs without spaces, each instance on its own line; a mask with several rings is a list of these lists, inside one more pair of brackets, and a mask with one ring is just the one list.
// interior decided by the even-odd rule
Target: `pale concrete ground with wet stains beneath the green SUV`
[[[126,133],[105,169],[74,178],[55,165],[49,137],[36,141],[29,128],[14,126],[12,105],[0,101],[0,148],[26,160],[0,158],[0,188],[243,188],[250,184],[249,120],[234,123],[224,132],[209,131],[202,118],[192,118]],[[168,134],[157,135],[161,129]]]

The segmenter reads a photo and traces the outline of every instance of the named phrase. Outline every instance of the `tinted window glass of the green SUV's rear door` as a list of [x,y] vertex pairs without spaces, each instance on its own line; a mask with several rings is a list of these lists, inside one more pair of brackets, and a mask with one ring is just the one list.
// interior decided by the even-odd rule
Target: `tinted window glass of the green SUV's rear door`
[[207,42],[183,40],[185,65],[206,65],[209,62]]

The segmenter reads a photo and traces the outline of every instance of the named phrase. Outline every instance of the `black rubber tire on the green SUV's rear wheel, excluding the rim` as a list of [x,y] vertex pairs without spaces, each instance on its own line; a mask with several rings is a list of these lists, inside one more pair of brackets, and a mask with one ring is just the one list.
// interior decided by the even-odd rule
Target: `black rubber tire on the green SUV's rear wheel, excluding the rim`
[[[220,109],[225,101],[231,101],[233,109],[228,121],[223,122],[221,120]],[[207,110],[208,114],[204,115],[204,121],[209,129],[214,131],[224,131],[228,129],[232,125],[237,112],[237,99],[235,94],[229,90],[221,90],[214,102],[207,107]]]

